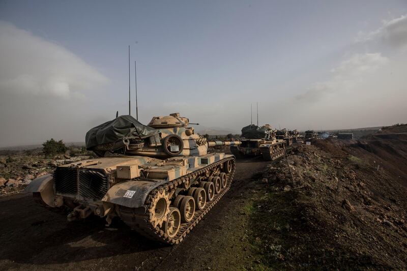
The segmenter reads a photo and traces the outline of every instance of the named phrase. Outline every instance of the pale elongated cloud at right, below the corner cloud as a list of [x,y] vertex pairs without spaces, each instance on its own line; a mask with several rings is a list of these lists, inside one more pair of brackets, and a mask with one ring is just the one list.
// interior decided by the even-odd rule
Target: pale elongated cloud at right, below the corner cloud
[[297,95],[297,101],[319,102],[329,94],[357,91],[357,84],[386,64],[389,59],[381,53],[355,53],[331,70],[331,78],[312,84],[305,93]]

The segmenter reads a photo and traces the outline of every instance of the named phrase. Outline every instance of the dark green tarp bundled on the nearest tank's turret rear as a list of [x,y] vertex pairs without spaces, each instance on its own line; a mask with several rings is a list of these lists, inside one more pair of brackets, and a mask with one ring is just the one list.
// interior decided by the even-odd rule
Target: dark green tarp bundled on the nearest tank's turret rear
[[134,117],[123,115],[89,130],[85,138],[86,149],[93,150],[98,145],[123,139],[144,139],[158,133],[159,130],[142,125]]

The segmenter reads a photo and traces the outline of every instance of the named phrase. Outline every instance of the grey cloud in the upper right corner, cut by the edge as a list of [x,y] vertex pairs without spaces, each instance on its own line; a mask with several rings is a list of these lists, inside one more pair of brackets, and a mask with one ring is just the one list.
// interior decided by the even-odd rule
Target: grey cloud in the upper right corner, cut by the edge
[[407,15],[392,20],[384,20],[381,27],[368,34],[360,33],[356,39],[359,43],[382,42],[402,51],[407,50]]

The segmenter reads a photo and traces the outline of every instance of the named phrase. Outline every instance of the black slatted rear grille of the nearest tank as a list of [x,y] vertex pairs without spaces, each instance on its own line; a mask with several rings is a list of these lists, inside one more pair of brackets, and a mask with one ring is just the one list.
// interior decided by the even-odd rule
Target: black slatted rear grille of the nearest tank
[[57,167],[54,171],[55,192],[88,199],[102,199],[109,186],[103,170]]

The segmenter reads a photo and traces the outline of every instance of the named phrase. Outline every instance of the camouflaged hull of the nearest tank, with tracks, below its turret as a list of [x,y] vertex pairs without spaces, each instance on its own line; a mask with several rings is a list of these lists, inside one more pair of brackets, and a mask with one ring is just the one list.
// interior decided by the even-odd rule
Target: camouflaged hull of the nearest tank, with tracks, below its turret
[[[110,224],[119,217],[149,238],[178,244],[228,191],[234,173],[235,157],[223,153],[164,160],[106,157],[57,167],[53,175],[28,185],[26,192],[41,206],[65,212],[69,221],[96,215]],[[219,191],[210,195],[208,187],[216,185]],[[208,193],[208,200],[199,201],[194,191]],[[185,214],[180,212],[180,198],[201,204],[189,220],[181,220]],[[175,235],[169,225],[173,214],[180,214]]]

